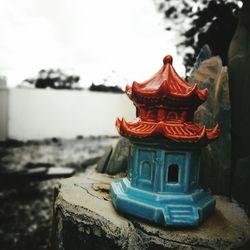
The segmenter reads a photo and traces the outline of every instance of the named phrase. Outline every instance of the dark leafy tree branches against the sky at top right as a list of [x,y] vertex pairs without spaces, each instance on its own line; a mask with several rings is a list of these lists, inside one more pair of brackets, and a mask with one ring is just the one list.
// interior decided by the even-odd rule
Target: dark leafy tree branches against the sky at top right
[[165,18],[166,30],[180,34],[178,52],[184,57],[187,71],[205,45],[227,65],[227,53],[237,25],[239,0],[155,0]]

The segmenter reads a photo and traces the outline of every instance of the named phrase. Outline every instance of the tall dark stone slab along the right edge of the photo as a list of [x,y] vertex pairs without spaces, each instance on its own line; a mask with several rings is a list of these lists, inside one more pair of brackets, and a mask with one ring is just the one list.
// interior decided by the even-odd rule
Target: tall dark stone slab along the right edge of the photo
[[228,53],[228,68],[232,104],[232,191],[233,196],[250,210],[247,192],[250,165],[247,167],[242,162],[250,157],[250,2],[247,0],[243,1],[243,8],[239,11],[238,26]]

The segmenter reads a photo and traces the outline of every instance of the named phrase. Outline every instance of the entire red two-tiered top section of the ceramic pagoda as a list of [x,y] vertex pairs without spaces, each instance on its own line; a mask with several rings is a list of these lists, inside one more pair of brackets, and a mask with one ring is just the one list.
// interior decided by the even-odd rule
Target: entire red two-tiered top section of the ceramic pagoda
[[137,120],[126,122],[117,119],[116,127],[121,135],[135,138],[162,137],[175,142],[204,144],[219,136],[219,127],[207,129],[194,124],[196,108],[206,100],[207,89],[199,90],[177,75],[172,57],[163,59],[162,68],[148,81],[134,82],[126,88],[137,109]]

